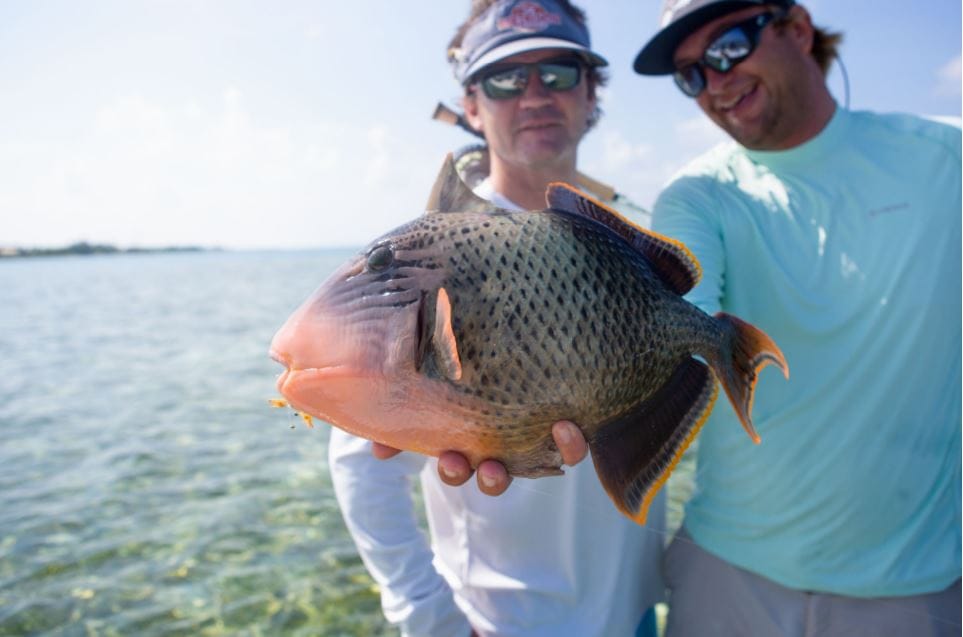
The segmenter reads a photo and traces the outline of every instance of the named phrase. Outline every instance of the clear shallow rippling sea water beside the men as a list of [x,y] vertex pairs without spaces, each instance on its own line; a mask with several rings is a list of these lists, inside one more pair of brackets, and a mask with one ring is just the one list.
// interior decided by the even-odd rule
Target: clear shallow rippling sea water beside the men
[[0,635],[397,634],[328,427],[267,405],[274,331],[349,254],[0,261]]

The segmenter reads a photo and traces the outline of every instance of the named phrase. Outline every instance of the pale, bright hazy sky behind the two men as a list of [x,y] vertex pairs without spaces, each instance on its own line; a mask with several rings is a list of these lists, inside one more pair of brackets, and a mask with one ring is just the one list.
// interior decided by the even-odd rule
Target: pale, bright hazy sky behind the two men
[[[636,75],[660,0],[582,0],[610,63],[583,172],[648,208],[724,139]],[[810,0],[853,109],[959,118],[958,0]],[[421,214],[457,104],[468,0],[0,2],[0,247],[363,245]],[[402,9],[403,8],[403,9]],[[829,86],[845,103],[842,75]]]

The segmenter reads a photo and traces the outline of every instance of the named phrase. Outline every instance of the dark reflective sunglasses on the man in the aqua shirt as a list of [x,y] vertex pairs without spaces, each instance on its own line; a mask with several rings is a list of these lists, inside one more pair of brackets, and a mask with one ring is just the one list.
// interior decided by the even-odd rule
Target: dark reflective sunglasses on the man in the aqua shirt
[[760,13],[732,25],[706,47],[701,60],[676,70],[672,75],[676,85],[689,97],[698,97],[706,87],[705,67],[728,73],[756,50],[759,35],[766,25],[782,17],[785,14]]

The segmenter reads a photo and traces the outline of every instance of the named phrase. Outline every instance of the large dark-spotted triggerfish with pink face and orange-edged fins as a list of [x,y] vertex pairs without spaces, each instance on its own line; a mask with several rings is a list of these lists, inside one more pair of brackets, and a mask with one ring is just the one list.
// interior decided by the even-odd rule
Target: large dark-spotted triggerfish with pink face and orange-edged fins
[[616,506],[644,523],[716,379],[758,442],[757,373],[788,367],[759,329],[682,298],[701,275],[682,243],[567,184],[546,199],[498,209],[449,156],[427,212],[342,265],[275,335],[278,390],[352,434],[515,476],[561,474],[551,426],[572,420]]

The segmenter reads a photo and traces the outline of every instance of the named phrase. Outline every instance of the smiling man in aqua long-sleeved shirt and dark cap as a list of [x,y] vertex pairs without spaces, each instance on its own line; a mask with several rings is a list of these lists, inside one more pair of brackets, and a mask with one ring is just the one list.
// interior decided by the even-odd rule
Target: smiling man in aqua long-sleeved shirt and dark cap
[[727,405],[665,558],[670,635],[960,634],[960,130],[849,111],[792,0],[673,0],[635,70],[731,137],[654,209],[689,299],[775,340],[749,444]]

